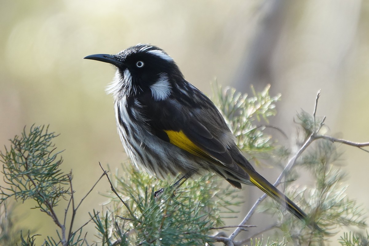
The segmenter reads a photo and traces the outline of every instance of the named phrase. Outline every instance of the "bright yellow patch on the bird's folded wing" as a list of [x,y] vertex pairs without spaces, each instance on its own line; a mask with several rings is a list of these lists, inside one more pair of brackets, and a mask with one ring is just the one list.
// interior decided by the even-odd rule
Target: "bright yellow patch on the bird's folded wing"
[[209,155],[204,152],[202,149],[199,148],[196,144],[194,144],[189,138],[187,138],[186,134],[183,131],[173,131],[173,130],[164,130],[165,133],[168,135],[169,142],[173,145],[186,150],[187,152],[191,153],[192,155],[205,157],[209,159]]

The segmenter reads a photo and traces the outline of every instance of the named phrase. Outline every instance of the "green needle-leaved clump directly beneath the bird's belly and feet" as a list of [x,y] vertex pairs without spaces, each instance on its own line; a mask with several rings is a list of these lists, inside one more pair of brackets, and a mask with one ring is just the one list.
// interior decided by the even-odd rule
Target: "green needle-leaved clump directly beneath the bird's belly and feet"
[[[199,180],[189,180],[186,186],[174,190],[167,181],[149,177],[130,165],[128,177],[115,175],[114,188],[128,204],[125,207],[111,194],[113,209],[101,218],[92,214],[99,231],[101,245],[213,245],[208,236],[214,228],[223,226],[222,208],[239,204],[237,191],[221,185],[219,179],[207,174]],[[173,181],[172,177],[166,180]],[[148,188],[151,187],[151,188]],[[167,187],[154,197],[155,188]],[[174,192],[174,195],[173,195]],[[117,215],[119,215],[117,217]],[[109,233],[113,232],[113,233]]]

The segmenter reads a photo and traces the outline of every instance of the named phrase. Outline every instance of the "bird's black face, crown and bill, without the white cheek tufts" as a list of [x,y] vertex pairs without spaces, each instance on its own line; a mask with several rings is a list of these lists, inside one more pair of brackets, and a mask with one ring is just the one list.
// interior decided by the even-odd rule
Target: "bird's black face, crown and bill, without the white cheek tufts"
[[148,44],[132,46],[116,55],[99,54],[85,58],[113,64],[122,77],[128,69],[132,84],[141,88],[154,84],[162,73],[166,73],[170,80],[178,76],[183,78],[174,60],[165,51]]

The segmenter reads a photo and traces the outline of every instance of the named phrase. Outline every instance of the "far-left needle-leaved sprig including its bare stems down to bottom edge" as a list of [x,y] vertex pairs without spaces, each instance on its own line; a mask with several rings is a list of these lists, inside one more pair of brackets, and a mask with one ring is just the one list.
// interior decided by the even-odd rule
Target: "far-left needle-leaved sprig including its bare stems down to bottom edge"
[[[2,173],[7,184],[7,187],[0,187],[0,203],[5,209],[5,202],[11,197],[21,201],[36,201],[35,208],[50,216],[60,230],[57,231],[58,239],[48,237],[42,245],[80,245],[84,240],[83,237],[81,238],[82,229],[77,231],[71,229],[77,210],[74,206],[72,177],[71,173],[64,174],[60,169],[62,158],[59,154],[61,152],[55,152],[56,148],[52,143],[56,136],[58,135],[54,132],[49,132],[48,127],[32,126],[29,132],[26,132],[24,128],[21,136],[10,139],[10,148],[5,147],[5,152],[0,152],[1,162],[3,162]],[[54,210],[61,199],[69,199],[63,222]],[[70,204],[72,204],[73,212],[69,225],[70,230],[67,232],[66,216]],[[9,219],[11,212],[12,210],[8,209],[2,217],[1,235],[4,236],[0,238],[0,244],[18,241],[14,239],[10,231],[12,228]],[[7,225],[3,222],[4,219],[8,220]],[[9,236],[13,236],[13,241],[9,241]],[[35,245],[36,236],[31,236],[30,231],[26,236],[21,234],[20,245]]]

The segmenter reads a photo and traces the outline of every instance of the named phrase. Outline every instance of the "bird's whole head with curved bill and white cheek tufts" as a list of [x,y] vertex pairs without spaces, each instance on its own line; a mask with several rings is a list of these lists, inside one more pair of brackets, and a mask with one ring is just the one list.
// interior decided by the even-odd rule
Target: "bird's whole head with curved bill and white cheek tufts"
[[164,100],[170,96],[175,83],[184,80],[173,58],[150,44],[138,44],[116,55],[96,54],[85,59],[117,67],[114,81],[107,87],[107,92],[115,97],[150,92],[155,100]]

